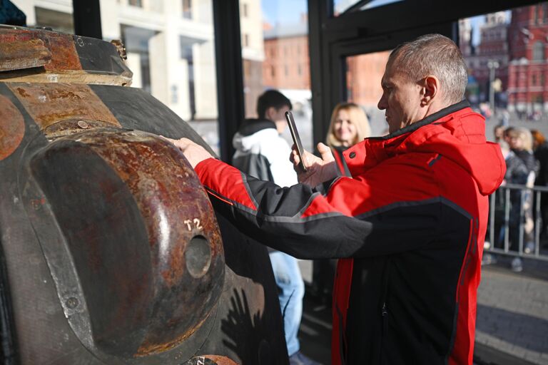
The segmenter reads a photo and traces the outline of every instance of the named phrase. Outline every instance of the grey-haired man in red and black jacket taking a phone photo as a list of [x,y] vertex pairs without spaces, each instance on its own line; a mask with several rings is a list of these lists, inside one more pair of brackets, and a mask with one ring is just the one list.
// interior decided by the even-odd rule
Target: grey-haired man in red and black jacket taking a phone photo
[[345,152],[352,178],[336,175],[321,143],[301,183],[281,188],[173,141],[215,209],[248,235],[295,257],[340,258],[333,364],[472,364],[487,195],[505,165],[462,101],[466,83],[449,38],[398,46],[378,104],[390,134]]

